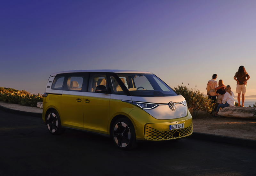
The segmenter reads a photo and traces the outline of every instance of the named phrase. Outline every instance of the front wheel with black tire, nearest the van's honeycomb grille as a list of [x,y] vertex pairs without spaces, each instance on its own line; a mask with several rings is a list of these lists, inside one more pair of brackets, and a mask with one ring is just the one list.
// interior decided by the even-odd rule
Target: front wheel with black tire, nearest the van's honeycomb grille
[[112,139],[119,149],[131,150],[137,146],[135,129],[128,118],[117,119],[111,130]]

